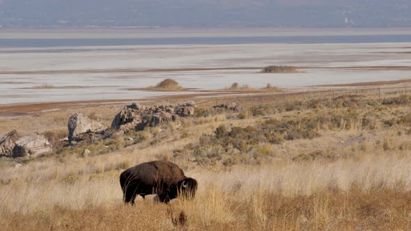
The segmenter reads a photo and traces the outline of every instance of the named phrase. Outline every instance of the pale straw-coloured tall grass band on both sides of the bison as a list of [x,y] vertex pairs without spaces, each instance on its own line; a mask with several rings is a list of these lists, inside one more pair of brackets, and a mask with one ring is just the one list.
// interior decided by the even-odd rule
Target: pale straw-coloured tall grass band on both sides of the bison
[[[86,211],[90,207],[125,209],[121,207],[122,192],[118,183],[122,169],[95,173],[91,170],[86,172],[86,164],[80,168],[75,164],[72,160],[63,164],[46,161],[34,166],[1,169],[0,217],[38,213],[52,216],[56,208],[73,212]],[[102,163],[95,163],[99,164]],[[375,191],[409,192],[410,164],[408,155],[378,154],[327,163],[277,161],[263,166],[234,166],[214,172],[192,169],[186,175],[199,181],[196,199],[176,200],[172,205],[185,211],[189,221],[197,227],[232,224],[244,218],[272,222],[281,214],[271,214],[273,208],[270,203],[273,200],[278,203],[281,198],[315,197],[321,193],[347,195],[352,193],[352,189],[364,195]],[[102,169],[105,167],[102,164]],[[5,175],[9,182],[4,179]],[[325,219],[329,216],[327,201],[320,197],[316,200],[311,207],[316,213],[313,219]],[[137,207],[140,206],[141,202],[138,202]],[[277,209],[285,209],[277,206]],[[329,223],[331,218],[326,220],[324,222]]]

